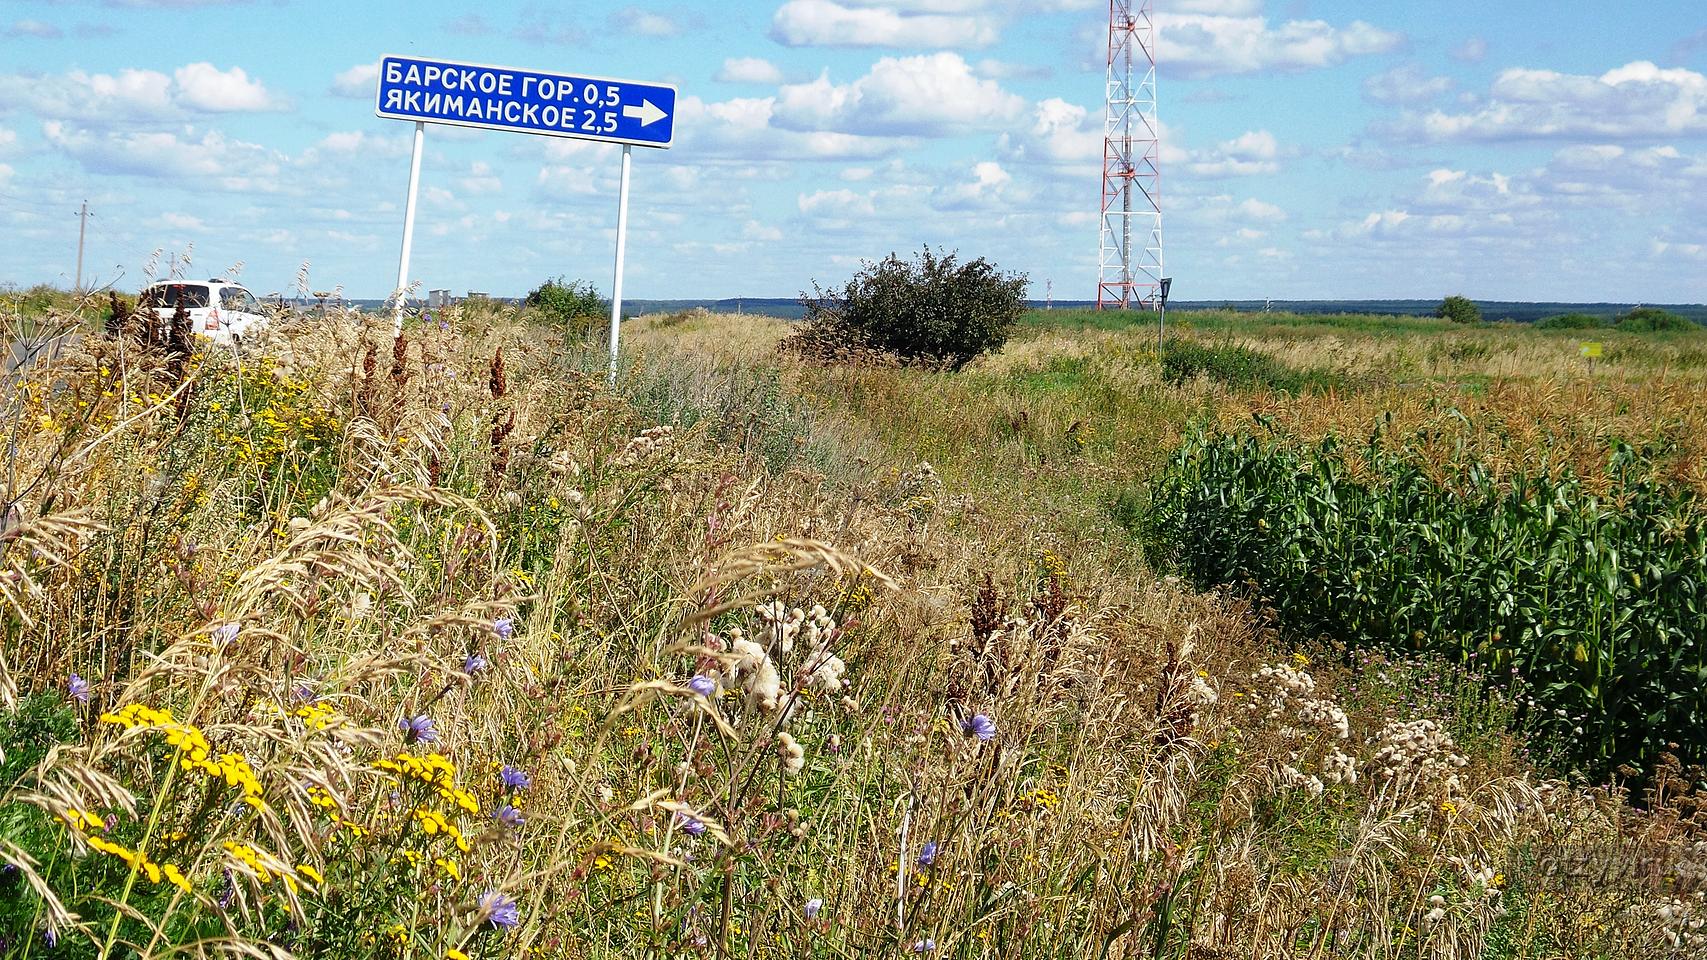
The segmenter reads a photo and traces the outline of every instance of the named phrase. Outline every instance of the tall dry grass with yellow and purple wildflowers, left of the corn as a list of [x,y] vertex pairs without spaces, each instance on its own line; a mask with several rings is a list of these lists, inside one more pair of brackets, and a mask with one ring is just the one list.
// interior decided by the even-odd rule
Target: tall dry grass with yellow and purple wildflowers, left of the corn
[[611,395],[538,330],[384,326],[90,338],[0,407],[0,950],[1700,943],[1688,810],[1541,781],[1446,668],[1110,565],[975,480],[1024,425],[954,453],[1000,436],[975,372],[640,338]]

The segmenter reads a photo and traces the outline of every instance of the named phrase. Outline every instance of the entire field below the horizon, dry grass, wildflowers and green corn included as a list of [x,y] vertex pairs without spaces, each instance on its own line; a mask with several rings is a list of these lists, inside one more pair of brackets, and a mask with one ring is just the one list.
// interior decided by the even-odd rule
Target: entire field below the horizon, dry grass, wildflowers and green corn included
[[1707,951],[1702,338],[1178,319],[89,335],[0,393],[0,955]]

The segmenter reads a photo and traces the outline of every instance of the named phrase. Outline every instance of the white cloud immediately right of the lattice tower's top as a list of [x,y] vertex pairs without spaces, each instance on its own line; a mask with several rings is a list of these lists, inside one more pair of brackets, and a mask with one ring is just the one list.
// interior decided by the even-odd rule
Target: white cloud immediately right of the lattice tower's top
[[[1241,10],[1248,3],[1238,3]],[[1215,77],[1261,70],[1311,70],[1354,56],[1388,53],[1403,34],[1354,20],[1335,27],[1326,20],[1287,20],[1270,26],[1258,15],[1171,14],[1157,15],[1159,60],[1173,75]]]

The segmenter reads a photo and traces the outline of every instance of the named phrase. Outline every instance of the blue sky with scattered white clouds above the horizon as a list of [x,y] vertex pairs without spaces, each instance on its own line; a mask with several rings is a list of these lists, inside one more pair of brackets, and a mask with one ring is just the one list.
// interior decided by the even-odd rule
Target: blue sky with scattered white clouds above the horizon
[[[1156,0],[1173,296],[1707,301],[1700,0]],[[1092,299],[1106,0],[3,0],[0,284],[384,297],[384,55],[678,87],[626,294],[795,296],[923,244]],[[609,290],[620,147],[428,126],[410,277]],[[241,266],[237,266],[241,263]],[[152,266],[150,266],[152,265]]]

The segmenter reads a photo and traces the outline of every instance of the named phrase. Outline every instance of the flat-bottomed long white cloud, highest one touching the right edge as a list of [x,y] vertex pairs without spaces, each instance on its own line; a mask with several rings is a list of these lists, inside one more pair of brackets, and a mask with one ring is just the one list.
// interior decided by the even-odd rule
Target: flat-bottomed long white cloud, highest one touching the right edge
[[1615,140],[1707,133],[1707,75],[1646,60],[1599,77],[1502,72],[1473,109],[1407,114],[1393,133],[1413,140]]

